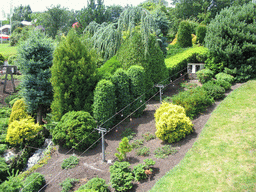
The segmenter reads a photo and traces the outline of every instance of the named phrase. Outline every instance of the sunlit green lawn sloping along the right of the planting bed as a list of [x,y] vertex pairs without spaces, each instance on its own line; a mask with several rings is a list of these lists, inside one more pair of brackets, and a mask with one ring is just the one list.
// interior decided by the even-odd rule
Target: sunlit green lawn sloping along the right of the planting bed
[[256,81],[233,91],[212,113],[184,159],[154,191],[256,191]]

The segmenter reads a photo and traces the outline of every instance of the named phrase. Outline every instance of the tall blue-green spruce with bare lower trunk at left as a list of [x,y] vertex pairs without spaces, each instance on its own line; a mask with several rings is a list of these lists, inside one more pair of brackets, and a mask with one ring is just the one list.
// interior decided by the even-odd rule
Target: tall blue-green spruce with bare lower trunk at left
[[22,96],[31,113],[37,112],[42,124],[43,109],[52,102],[52,85],[50,82],[53,59],[53,43],[43,33],[35,31],[18,48],[18,60],[23,74]]

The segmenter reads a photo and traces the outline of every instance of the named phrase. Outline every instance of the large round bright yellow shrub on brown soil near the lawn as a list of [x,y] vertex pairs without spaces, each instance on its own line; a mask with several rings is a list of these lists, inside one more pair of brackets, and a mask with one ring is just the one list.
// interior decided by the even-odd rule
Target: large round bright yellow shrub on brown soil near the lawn
[[181,140],[193,131],[193,124],[185,109],[171,103],[163,103],[155,113],[156,136],[168,143]]

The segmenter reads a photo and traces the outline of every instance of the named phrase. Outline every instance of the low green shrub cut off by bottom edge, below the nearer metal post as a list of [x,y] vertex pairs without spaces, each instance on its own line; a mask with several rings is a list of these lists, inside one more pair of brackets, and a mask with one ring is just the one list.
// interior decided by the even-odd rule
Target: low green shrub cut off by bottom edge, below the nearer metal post
[[106,181],[102,178],[99,178],[98,176],[89,180],[85,185],[82,185],[81,187],[79,187],[78,190],[82,191],[86,189],[92,189],[98,192],[110,191],[108,189],[108,185],[106,184]]

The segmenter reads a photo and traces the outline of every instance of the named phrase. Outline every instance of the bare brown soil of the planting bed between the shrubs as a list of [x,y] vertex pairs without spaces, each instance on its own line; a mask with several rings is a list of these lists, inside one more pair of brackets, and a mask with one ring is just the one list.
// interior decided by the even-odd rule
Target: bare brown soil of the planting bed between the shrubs
[[[10,82],[8,82],[9,88],[7,91],[12,88]],[[236,84],[232,86],[231,90],[226,93],[228,95],[234,89],[238,88],[241,84]],[[6,97],[6,94],[2,94],[1,85],[1,99],[3,100]],[[7,86],[8,87],[8,86]],[[171,96],[173,94],[178,93],[181,88],[178,86],[178,82],[176,82],[175,86],[168,86],[164,90],[164,95]],[[2,102],[1,100],[1,102]],[[193,143],[199,138],[199,135],[209,119],[212,111],[220,104],[221,101],[215,102],[214,105],[209,107],[204,113],[193,120],[194,124],[194,132],[188,135],[185,139],[171,144],[171,146],[175,147],[178,152],[168,156],[165,159],[157,159],[154,157],[154,150],[158,147],[162,147],[165,145],[160,139],[156,138],[150,140],[148,142],[144,141],[144,146],[150,148],[150,155],[147,157],[137,156],[135,150],[127,154],[127,161],[130,162],[131,168],[139,163],[143,163],[143,160],[146,158],[152,158],[156,161],[153,169],[153,177],[146,181],[142,182],[134,182],[134,187],[130,191],[136,192],[144,192],[149,191],[154,184],[163,177],[169,170],[171,170],[174,166],[176,166],[185,156],[187,151],[192,147]],[[140,118],[132,118],[129,122],[124,122],[113,131],[108,133],[105,136],[105,152],[106,152],[106,160],[111,160],[112,164],[116,161],[116,157],[114,154],[117,152],[116,148],[121,140],[121,133],[126,128],[132,128],[136,133],[134,139],[143,139],[142,135],[146,132],[150,132],[152,134],[155,133],[155,121],[154,121],[154,113],[157,108],[159,108],[159,101],[151,100],[144,111],[144,114]],[[102,162],[102,153],[101,153],[101,143],[97,145],[96,148],[89,150],[85,153],[71,151],[59,148],[56,146],[56,150],[52,153],[52,158],[48,161],[47,165],[37,169],[37,172],[45,175],[47,186],[44,189],[45,192],[60,192],[61,186],[59,185],[66,178],[77,178],[80,179],[80,182],[76,184],[73,191],[79,188],[79,186],[85,184],[88,180],[98,176],[106,180],[109,183],[110,173],[109,166],[107,162]],[[68,153],[67,153],[68,152]],[[69,157],[70,155],[77,155],[79,157],[79,165],[73,169],[62,170],[61,163],[64,159]],[[114,191],[113,188],[109,187],[111,191]]]

